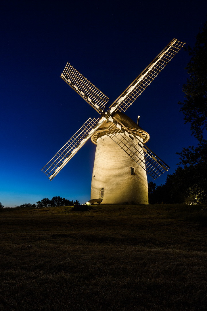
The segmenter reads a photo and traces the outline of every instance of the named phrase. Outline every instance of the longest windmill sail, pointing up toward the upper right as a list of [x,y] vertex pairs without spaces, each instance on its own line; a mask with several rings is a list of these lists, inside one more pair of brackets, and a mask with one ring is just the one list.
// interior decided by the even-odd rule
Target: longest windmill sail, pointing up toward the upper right
[[110,113],[126,111],[184,44],[174,38],[109,107]]

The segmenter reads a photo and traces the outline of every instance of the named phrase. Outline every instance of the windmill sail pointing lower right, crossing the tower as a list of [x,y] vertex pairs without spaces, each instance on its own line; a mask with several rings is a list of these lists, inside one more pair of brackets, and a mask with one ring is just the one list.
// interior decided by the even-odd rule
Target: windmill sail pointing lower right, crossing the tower
[[[110,117],[112,125],[109,128],[107,135],[117,143],[137,164],[139,164],[146,172],[156,179],[165,171],[168,171],[169,166],[164,163],[153,151],[151,151],[142,141],[135,137],[134,134],[126,128],[115,117]],[[122,134],[123,133],[123,134]],[[121,135],[117,135],[121,134]],[[134,146],[136,143],[138,149]]]

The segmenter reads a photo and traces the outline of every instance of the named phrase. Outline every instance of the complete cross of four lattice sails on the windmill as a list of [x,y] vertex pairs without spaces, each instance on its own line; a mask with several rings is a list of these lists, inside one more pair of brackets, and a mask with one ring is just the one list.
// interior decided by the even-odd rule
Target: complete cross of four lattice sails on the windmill
[[[102,117],[101,119],[89,118],[74,136],[71,137],[70,140],[43,167],[43,173],[52,180],[105,121],[112,122],[108,135],[135,161],[138,161],[139,157],[133,155],[135,152],[133,151],[134,145],[132,142],[135,142],[138,147],[142,149],[145,160],[141,161],[141,166],[152,178],[156,179],[164,173],[164,171],[167,171],[169,166],[156,156],[145,144],[143,144],[137,136],[134,136],[128,128],[124,127],[120,121],[113,117],[113,113],[116,110],[119,112],[125,112],[155,79],[160,71],[178,53],[184,44],[185,43],[178,41],[175,38],[170,41],[162,52],[142,71],[142,73],[128,86],[114,103],[110,105],[108,112],[105,112],[105,114],[104,109],[106,109],[106,104],[109,98],[72,67],[70,63],[67,63],[60,77],[99,114],[101,114]],[[120,139],[120,137],[118,139],[118,136],[116,135],[116,133],[120,131],[125,135],[125,137],[124,135],[122,136],[122,139]],[[127,145],[131,145],[131,150],[129,148],[127,150]],[[142,152],[140,154],[143,156]],[[140,162],[140,159],[138,162]]]

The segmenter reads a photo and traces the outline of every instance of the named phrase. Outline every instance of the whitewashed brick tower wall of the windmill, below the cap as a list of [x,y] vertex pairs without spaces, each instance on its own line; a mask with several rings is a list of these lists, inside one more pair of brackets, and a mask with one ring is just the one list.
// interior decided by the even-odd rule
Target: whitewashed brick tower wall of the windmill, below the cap
[[[131,167],[135,175],[131,175]],[[148,204],[146,171],[106,135],[97,139],[91,199],[101,197],[101,188],[104,188],[103,204]]]

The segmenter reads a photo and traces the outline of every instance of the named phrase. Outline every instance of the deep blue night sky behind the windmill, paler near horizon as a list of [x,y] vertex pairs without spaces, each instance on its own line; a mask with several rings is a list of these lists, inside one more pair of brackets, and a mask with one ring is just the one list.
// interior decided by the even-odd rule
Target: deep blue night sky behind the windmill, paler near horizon
[[[84,203],[96,148],[91,141],[52,181],[41,171],[89,117],[98,117],[60,78],[67,61],[112,103],[174,37],[194,46],[206,1],[7,0],[0,12],[0,202],[61,196]],[[171,167],[169,174],[179,161],[175,152],[197,143],[178,105],[189,59],[184,49],[178,52],[127,110],[135,122],[141,116],[147,146]]]

